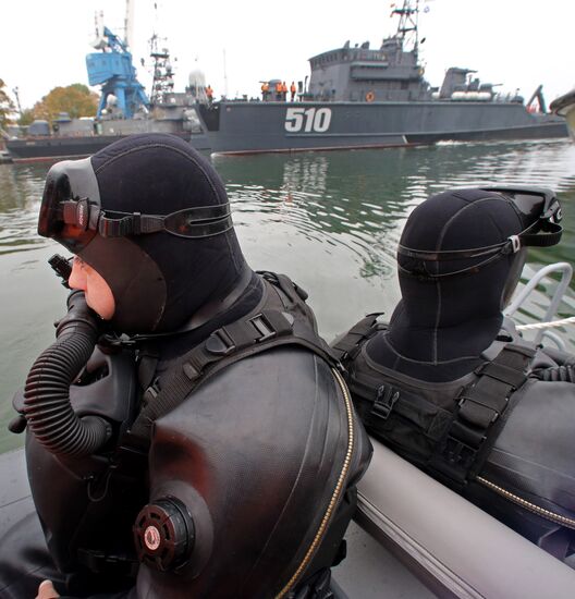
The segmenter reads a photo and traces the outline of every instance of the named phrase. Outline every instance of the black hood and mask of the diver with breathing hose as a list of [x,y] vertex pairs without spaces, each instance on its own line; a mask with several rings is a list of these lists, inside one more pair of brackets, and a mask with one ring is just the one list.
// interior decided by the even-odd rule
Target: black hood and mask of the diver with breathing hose
[[54,164],[38,231],[103,277],[119,332],[170,332],[246,268],[229,212],[207,159],[176,136],[143,134]]

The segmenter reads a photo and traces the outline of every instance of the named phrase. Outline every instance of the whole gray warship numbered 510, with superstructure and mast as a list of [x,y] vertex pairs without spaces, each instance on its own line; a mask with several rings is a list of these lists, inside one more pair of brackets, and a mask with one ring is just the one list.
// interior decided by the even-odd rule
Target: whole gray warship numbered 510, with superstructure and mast
[[546,113],[543,102],[536,111],[522,97],[497,94],[496,85],[481,83],[469,69],[449,69],[441,87],[432,88],[418,59],[418,13],[419,0],[394,8],[396,33],[378,49],[346,41],[309,59],[309,85],[298,84],[296,102],[266,94],[261,101],[199,107],[211,150],[248,154],[567,136],[565,122]]

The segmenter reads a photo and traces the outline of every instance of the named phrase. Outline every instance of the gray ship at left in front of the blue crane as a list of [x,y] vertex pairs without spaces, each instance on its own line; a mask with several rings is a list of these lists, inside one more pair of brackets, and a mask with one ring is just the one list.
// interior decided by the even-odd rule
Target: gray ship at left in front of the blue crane
[[135,133],[171,133],[198,150],[209,149],[195,110],[197,102],[207,101],[203,74],[191,73],[186,90],[174,91],[168,49],[156,34],[149,44],[154,80],[148,98],[136,76],[127,35],[122,39],[97,20],[93,46],[98,51],[86,56],[89,85],[101,88],[96,117],[71,119],[64,112],[51,125],[34,121],[24,137],[5,140],[12,161],[89,156]]

